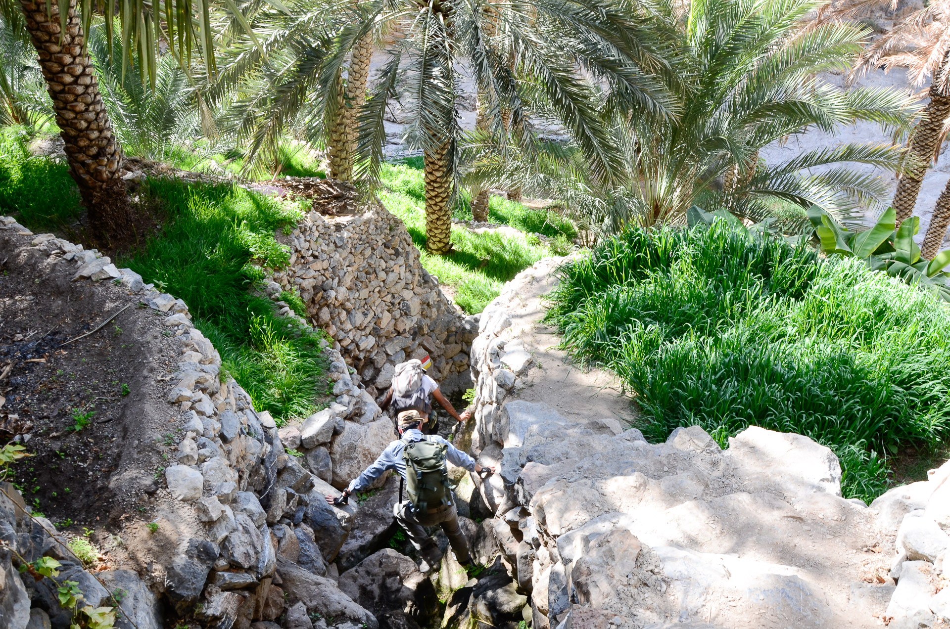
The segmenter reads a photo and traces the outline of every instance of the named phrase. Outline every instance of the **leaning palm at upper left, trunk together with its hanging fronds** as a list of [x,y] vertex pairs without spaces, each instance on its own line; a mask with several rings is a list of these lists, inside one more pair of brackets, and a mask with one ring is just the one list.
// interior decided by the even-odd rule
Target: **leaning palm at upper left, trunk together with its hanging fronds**
[[[66,161],[83,204],[89,224],[97,236],[123,240],[131,234],[132,215],[120,178],[122,148],[113,132],[99,90],[93,61],[86,48],[93,10],[97,7],[117,12],[123,25],[125,50],[137,50],[142,80],[154,79],[154,60],[163,40],[182,64],[200,48],[212,65],[211,7],[207,0],[169,0],[158,4],[130,0],[118,5],[76,0],[0,0],[0,13],[23,11],[24,26],[36,48],[39,64],[52,99],[56,124],[66,143]],[[233,6],[233,5],[232,5]],[[239,14],[232,17],[243,21]],[[111,37],[111,23],[107,22]]]

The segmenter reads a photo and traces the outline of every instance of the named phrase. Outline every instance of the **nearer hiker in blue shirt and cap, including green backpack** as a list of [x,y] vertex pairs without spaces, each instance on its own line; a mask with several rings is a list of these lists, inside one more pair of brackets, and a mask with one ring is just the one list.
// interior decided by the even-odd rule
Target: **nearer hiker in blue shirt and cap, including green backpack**
[[448,543],[455,552],[455,558],[463,566],[468,566],[468,543],[459,526],[459,516],[452,502],[451,487],[448,485],[446,460],[453,466],[465,467],[468,471],[489,474],[495,467],[482,467],[465,452],[455,448],[439,435],[422,433],[423,419],[418,410],[404,410],[399,413],[399,434],[402,439],[393,441],[383,450],[379,458],[363,470],[350,483],[339,498],[327,496],[331,505],[346,505],[355,491],[370,486],[373,481],[388,469],[395,469],[406,483],[409,500],[402,496],[402,482],[399,485],[399,501],[392,509],[396,522],[406,531],[409,542],[422,556],[420,570],[436,567],[442,560],[439,546],[426,533],[424,526],[439,524],[446,532]]

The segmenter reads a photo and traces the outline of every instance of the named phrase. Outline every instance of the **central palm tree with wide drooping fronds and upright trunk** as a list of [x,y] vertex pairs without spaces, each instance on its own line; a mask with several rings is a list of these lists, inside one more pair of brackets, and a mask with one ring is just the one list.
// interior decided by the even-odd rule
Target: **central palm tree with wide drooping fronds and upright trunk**
[[[338,142],[342,133],[334,136],[333,130],[324,133],[324,129],[334,124],[333,114],[341,103],[339,68],[355,43],[371,30],[397,34],[385,47],[388,62],[378,86],[358,115],[353,166],[357,175],[373,180],[386,137],[385,107],[391,98],[399,98],[412,121],[406,140],[424,158],[427,248],[434,254],[450,251],[462,138],[456,111],[460,66],[471,71],[482,95],[484,124],[497,137],[527,138],[526,103],[541,104],[545,116],[558,119],[570,130],[604,180],[614,176],[618,160],[599,121],[596,82],[615,86],[631,106],[660,116],[675,114],[655,76],[668,71],[658,48],[669,29],[662,23],[654,25],[656,18],[641,5],[531,0],[496,11],[485,0],[372,0],[360,3],[358,10],[359,20],[354,20],[346,2],[308,8],[324,20],[318,37],[326,45],[319,49],[292,34],[296,23],[314,24],[316,17],[294,16],[266,27],[262,20],[256,21],[268,32],[279,30],[288,36],[280,40],[277,62],[261,58],[252,63],[252,51],[235,52],[234,67],[259,69],[250,81],[244,72],[226,69],[223,73],[227,81],[236,82],[244,75],[244,85],[238,90],[246,97],[233,108],[234,127],[266,150],[268,139],[279,137],[289,124],[304,117],[310,133],[307,140],[316,142],[329,135],[328,143]],[[326,16],[333,15],[343,25],[329,24]],[[311,41],[313,32],[308,31]],[[269,35],[261,39],[277,41]],[[294,43],[288,46],[288,41]],[[579,67],[588,72],[589,81],[580,79]],[[218,87],[218,94],[223,91]],[[503,111],[509,133],[502,132]]]

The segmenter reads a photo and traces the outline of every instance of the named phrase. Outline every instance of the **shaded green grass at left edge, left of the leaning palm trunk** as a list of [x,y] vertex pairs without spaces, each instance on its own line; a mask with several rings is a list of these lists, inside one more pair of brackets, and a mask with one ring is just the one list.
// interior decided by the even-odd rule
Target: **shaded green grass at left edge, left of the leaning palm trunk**
[[0,127],[0,213],[33,231],[71,231],[83,207],[68,166],[30,155],[29,140],[26,127]]

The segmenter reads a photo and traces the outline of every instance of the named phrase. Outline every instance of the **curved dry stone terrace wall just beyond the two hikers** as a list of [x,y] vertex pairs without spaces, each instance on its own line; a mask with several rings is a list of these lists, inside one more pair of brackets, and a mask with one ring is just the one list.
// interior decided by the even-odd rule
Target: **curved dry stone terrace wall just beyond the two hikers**
[[390,386],[393,366],[428,354],[429,375],[468,370],[477,317],[466,317],[422,268],[403,222],[377,201],[342,217],[310,212],[289,237],[290,265],[268,290],[296,289],[311,321],[356,368],[368,391]]

